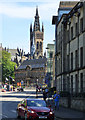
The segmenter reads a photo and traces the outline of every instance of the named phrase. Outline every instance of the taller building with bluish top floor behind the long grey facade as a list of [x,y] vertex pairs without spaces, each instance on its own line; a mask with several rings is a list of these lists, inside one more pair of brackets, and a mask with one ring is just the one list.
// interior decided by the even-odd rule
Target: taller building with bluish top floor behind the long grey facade
[[[55,25],[55,66],[57,66],[57,24],[63,14],[68,14],[78,1],[61,1],[58,8],[58,16],[53,16],[52,24]],[[55,83],[57,80],[57,67],[55,67]]]

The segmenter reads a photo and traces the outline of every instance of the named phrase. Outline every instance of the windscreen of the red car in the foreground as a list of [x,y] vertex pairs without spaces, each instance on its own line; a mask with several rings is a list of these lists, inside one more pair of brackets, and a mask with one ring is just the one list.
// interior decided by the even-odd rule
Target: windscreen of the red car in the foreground
[[27,100],[27,106],[46,107],[46,103],[44,100]]

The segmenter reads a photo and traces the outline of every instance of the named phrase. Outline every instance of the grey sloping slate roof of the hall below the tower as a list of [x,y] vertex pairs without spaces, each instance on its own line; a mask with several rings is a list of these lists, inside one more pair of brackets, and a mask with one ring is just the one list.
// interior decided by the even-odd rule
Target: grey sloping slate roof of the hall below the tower
[[26,69],[28,65],[31,68],[42,68],[45,67],[46,62],[47,58],[24,60],[23,63],[17,68],[17,70]]

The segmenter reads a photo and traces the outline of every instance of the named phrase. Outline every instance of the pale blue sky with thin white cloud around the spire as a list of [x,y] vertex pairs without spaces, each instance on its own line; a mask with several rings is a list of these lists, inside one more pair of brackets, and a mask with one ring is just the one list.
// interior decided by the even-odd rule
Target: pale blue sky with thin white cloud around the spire
[[47,44],[54,43],[53,40],[55,40],[55,25],[52,25],[52,17],[57,15],[59,2],[60,0],[0,0],[2,46],[9,49],[18,47],[25,53],[30,51],[30,24],[34,24],[36,6],[38,6],[41,27],[42,22],[44,24],[43,49],[45,52]]

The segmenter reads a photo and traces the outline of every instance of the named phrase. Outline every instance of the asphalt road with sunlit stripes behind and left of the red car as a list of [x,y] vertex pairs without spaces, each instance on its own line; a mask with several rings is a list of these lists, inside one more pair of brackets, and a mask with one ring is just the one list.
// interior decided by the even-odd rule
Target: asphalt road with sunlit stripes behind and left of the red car
[[[0,102],[2,101],[0,118],[2,120],[16,119],[17,104],[26,97],[35,98],[35,89],[25,89],[24,92],[2,92],[2,95],[0,95]],[[38,98],[42,99],[42,94],[38,94]]]

